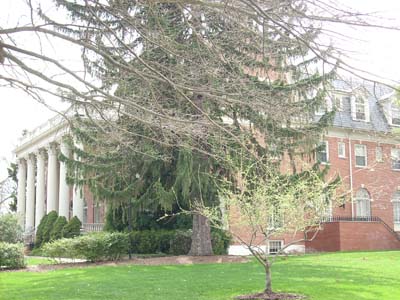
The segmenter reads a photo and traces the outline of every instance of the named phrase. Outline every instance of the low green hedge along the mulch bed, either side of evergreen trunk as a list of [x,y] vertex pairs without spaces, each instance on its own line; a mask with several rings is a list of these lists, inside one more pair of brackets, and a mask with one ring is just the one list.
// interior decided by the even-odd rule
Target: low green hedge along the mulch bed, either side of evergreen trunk
[[[214,254],[226,254],[230,237],[223,231],[212,232]],[[144,230],[130,234],[98,232],[73,239],[60,239],[43,246],[53,258],[85,258],[89,261],[118,260],[131,251],[136,254],[165,253],[185,255],[191,246],[191,231]]]

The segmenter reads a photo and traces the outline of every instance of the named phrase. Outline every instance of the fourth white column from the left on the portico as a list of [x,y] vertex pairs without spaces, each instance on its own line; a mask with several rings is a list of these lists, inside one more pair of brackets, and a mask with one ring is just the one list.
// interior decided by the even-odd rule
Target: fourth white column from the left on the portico
[[47,213],[58,211],[58,175],[57,175],[57,148],[55,144],[50,144],[48,148],[47,166]]

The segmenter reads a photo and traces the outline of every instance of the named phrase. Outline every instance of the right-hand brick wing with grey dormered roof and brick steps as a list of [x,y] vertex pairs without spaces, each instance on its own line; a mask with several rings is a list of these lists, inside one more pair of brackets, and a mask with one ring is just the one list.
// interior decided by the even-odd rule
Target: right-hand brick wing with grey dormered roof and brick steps
[[[346,201],[330,211],[312,241],[288,251],[400,249],[400,109],[396,93],[382,86],[336,81],[316,118],[332,109],[336,113],[323,134],[317,159],[329,166],[328,177],[340,175]],[[277,237],[267,248],[274,252],[299,238],[300,234]],[[246,252],[239,245],[232,247],[232,253]]]

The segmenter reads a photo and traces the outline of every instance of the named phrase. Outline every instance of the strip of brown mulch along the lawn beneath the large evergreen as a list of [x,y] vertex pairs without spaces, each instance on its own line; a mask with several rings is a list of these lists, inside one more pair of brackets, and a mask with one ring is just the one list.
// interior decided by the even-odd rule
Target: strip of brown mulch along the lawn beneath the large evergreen
[[[76,262],[76,263],[61,263],[54,265],[37,265],[28,266],[25,269],[18,271],[25,272],[45,272],[50,270],[59,270],[64,268],[85,268],[92,266],[121,266],[121,265],[191,265],[191,264],[216,264],[216,263],[245,263],[248,262],[248,257],[231,256],[231,255],[216,255],[216,256],[163,256],[149,258],[132,258],[120,261],[102,261],[102,262]],[[14,271],[15,272],[15,271]]]

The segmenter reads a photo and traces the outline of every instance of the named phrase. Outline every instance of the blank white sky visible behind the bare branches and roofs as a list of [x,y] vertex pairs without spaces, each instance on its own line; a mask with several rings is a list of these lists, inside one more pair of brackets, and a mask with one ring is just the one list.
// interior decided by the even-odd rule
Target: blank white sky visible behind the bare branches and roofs
[[[44,9],[49,8],[51,4],[50,0],[37,0],[37,2]],[[388,22],[386,19],[391,19],[392,24],[400,27],[400,1],[342,0],[342,2],[347,7],[362,12],[379,12],[379,15],[385,17],[385,22]],[[1,0],[0,27],[13,27],[27,23],[29,15],[24,6],[24,0]],[[54,7],[54,5],[51,6]],[[337,30],[341,29],[337,28]],[[352,39],[347,39],[342,43],[342,47],[349,51],[349,55],[351,53],[353,65],[382,77],[400,81],[400,31],[347,29],[344,34],[353,36]],[[68,56],[71,50],[62,47],[61,51]],[[54,112],[23,92],[10,88],[0,87],[0,101],[1,180],[7,174],[8,162],[13,160],[12,150],[22,130],[32,130],[46,122],[54,115]],[[51,99],[49,104],[55,108],[65,107],[55,99]]]

